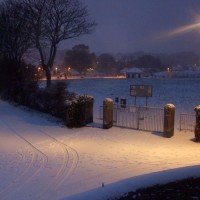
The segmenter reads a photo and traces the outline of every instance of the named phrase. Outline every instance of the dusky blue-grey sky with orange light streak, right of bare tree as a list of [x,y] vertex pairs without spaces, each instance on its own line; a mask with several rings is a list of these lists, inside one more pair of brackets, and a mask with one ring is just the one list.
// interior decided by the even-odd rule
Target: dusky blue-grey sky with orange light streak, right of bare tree
[[[200,52],[199,0],[83,0],[97,23],[94,32],[66,41],[96,53]],[[194,25],[195,24],[195,25]]]

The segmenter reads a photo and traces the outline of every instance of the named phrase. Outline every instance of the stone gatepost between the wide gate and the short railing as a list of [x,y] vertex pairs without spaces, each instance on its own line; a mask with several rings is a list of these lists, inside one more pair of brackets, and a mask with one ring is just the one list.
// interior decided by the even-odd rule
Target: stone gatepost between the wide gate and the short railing
[[175,106],[167,104],[164,107],[164,137],[174,136]]

